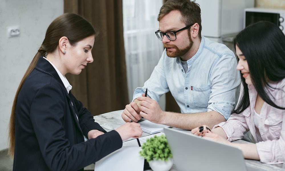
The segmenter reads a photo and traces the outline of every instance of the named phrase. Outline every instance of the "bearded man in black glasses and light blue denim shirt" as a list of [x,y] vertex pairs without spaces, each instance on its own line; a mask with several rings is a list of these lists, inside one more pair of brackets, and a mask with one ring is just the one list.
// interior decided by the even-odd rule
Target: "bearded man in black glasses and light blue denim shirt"
[[[241,84],[234,53],[201,35],[201,9],[195,1],[166,1],[158,21],[155,33],[162,40],[164,52],[144,86],[135,89],[133,101],[122,113],[123,120],[137,122],[144,117],[188,130],[226,121],[236,105]],[[181,113],[162,111],[158,105],[168,91]]]

